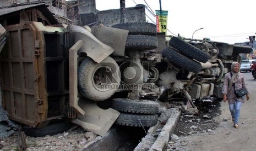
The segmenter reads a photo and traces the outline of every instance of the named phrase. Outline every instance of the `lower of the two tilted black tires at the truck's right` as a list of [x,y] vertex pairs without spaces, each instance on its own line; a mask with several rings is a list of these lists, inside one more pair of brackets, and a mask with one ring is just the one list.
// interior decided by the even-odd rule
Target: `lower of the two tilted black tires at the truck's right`
[[198,73],[202,68],[202,66],[198,62],[189,59],[188,57],[182,55],[181,53],[170,47],[165,47],[165,49],[162,51],[162,56],[166,57],[168,61],[172,62],[176,66],[185,68],[193,73]]

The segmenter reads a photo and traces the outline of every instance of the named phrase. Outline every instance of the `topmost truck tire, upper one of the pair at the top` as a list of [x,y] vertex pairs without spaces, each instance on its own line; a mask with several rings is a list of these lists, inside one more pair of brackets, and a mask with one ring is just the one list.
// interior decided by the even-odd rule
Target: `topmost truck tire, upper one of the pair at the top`
[[127,30],[128,34],[156,36],[156,25],[149,22],[124,22],[111,27]]

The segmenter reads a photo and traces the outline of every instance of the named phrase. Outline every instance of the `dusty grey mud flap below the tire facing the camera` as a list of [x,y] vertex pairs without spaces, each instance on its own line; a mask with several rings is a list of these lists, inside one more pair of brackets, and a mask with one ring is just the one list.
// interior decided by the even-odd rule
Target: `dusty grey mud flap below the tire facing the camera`
[[96,102],[89,100],[80,99],[79,107],[85,111],[85,114],[78,114],[76,119],[72,119],[72,123],[80,125],[86,131],[94,132],[100,136],[106,135],[120,115],[115,109],[101,109],[97,106]]

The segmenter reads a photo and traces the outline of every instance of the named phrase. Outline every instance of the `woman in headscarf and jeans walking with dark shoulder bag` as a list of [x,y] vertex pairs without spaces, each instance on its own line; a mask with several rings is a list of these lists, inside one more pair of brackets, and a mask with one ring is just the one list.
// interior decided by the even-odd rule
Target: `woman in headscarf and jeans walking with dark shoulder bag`
[[[243,73],[239,72],[238,62],[232,63],[231,72],[232,73],[226,73],[225,75],[224,85],[222,87],[222,93],[224,94],[223,95],[224,102],[228,101],[234,127],[238,129],[239,128],[238,119],[239,119],[242,103],[244,103],[244,97],[239,97],[239,98],[236,97],[233,89],[233,84],[235,84],[236,89],[239,89],[239,88],[247,89],[247,86],[246,86],[246,83],[244,82]],[[249,94],[246,95],[246,100],[247,101],[249,100]]]

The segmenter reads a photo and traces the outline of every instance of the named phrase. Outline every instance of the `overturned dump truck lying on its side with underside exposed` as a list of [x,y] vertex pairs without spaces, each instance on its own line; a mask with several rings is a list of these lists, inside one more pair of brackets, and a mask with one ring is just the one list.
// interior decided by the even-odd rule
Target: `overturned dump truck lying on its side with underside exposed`
[[157,100],[222,97],[231,63],[252,50],[182,37],[160,50],[156,26],[145,22],[89,28],[33,21],[4,28],[2,106],[31,136],[67,129],[67,123],[52,126],[59,120],[101,136],[113,123],[153,126]]

